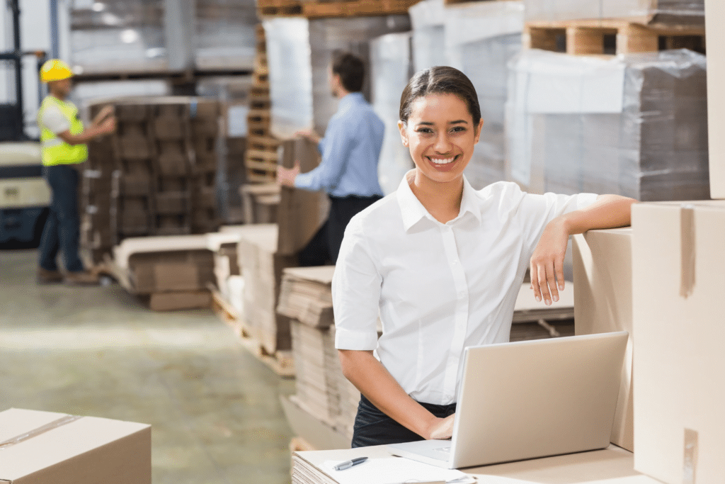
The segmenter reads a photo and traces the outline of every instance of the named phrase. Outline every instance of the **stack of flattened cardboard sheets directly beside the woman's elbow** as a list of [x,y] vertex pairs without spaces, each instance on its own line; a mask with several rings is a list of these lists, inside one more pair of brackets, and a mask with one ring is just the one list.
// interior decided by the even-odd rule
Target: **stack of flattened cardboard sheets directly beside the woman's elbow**
[[334,269],[286,269],[277,311],[291,318],[297,377],[297,395],[292,400],[350,438],[360,392],[342,374],[335,349],[331,287]]

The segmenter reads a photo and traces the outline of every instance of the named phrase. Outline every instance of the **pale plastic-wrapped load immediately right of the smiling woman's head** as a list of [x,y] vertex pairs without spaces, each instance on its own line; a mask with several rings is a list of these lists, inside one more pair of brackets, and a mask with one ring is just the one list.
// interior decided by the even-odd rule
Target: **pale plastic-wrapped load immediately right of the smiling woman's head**
[[480,189],[505,179],[505,104],[508,62],[521,51],[523,3],[452,5],[445,17],[448,64],[468,75],[481,105],[484,126],[466,177]]

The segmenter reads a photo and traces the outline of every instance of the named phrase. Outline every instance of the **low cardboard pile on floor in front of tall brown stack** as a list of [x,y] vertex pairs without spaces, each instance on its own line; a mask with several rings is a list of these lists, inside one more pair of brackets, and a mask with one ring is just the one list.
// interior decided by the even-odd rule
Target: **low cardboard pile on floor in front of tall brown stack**
[[214,255],[204,235],[130,237],[114,247],[117,278],[153,311],[208,308]]

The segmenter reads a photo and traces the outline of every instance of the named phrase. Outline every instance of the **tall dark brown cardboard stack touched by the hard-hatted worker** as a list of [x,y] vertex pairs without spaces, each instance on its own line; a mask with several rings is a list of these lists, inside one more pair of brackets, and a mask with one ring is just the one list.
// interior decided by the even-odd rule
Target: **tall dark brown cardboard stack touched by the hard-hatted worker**
[[88,144],[83,247],[94,263],[126,237],[214,231],[218,101],[189,97],[94,102],[114,107],[117,131]]

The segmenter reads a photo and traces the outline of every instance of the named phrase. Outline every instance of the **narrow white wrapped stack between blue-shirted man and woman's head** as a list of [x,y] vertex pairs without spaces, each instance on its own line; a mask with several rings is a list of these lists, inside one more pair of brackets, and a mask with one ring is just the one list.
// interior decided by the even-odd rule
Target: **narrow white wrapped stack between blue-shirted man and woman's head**
[[398,129],[400,94],[413,75],[410,33],[389,33],[370,42],[373,108],[385,123],[378,179],[384,194],[397,190],[413,160]]

